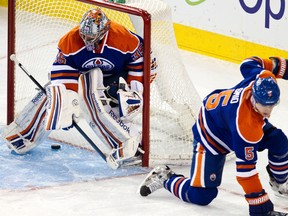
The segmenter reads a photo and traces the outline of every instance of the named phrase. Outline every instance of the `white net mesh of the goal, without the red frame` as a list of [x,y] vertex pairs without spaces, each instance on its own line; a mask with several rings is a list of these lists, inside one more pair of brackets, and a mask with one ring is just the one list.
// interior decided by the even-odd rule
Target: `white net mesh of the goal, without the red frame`
[[[126,0],[126,3],[148,11],[152,17],[151,43],[158,69],[150,92],[150,164],[190,163],[191,126],[200,108],[200,99],[181,62],[171,10],[160,0]],[[16,0],[16,55],[42,85],[48,81],[47,74],[57,54],[58,40],[78,24],[84,12],[93,7],[74,0]],[[111,20],[141,34],[143,26],[138,18],[103,10]],[[17,115],[36,90],[19,68],[16,68],[15,76]],[[148,129],[144,129],[144,133],[145,130]],[[82,148],[91,148],[73,129],[52,136]]]

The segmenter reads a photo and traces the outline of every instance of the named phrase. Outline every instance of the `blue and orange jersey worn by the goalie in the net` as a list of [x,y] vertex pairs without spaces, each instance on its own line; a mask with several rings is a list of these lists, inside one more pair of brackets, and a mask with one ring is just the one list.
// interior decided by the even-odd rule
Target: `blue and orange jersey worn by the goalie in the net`
[[64,35],[51,70],[51,83],[63,83],[67,89],[78,90],[80,73],[100,68],[104,86],[117,85],[122,76],[143,81],[143,39],[111,21],[110,29],[98,49],[88,51],[79,35],[79,26]]

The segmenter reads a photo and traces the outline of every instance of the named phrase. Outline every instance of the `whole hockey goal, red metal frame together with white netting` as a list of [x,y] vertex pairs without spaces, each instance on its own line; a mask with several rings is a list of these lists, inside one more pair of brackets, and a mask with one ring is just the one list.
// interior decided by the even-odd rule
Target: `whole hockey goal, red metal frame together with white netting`
[[[57,54],[59,39],[79,24],[84,12],[95,6],[101,7],[108,18],[144,39],[144,108],[142,118],[135,120],[142,127],[143,166],[190,164],[191,126],[201,101],[181,62],[171,9],[165,2],[126,0],[125,4],[118,4],[100,0],[9,0],[8,56],[15,53],[29,73],[44,86]],[[150,47],[158,65],[156,79],[151,84]],[[7,123],[10,123],[38,90],[9,58],[7,72]],[[91,149],[73,129],[52,132],[50,138],[77,148]],[[105,147],[102,148],[105,152]]]

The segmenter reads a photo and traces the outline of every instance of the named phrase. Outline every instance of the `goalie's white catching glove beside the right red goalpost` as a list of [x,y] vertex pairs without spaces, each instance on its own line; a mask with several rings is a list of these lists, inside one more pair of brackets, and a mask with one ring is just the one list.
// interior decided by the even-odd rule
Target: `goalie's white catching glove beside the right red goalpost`
[[140,112],[143,108],[143,84],[139,81],[131,81],[131,89],[128,87],[127,82],[120,77],[119,78],[119,90],[117,91],[119,101],[119,114],[120,119],[131,120]]

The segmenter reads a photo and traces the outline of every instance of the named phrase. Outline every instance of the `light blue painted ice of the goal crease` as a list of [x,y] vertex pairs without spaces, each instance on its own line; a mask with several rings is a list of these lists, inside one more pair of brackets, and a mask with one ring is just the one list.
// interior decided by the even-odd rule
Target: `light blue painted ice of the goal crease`
[[[1,128],[0,128],[1,132]],[[0,189],[29,189],[73,182],[100,180],[147,173],[140,166],[111,169],[96,153],[47,140],[25,155],[8,149],[0,137]]]

